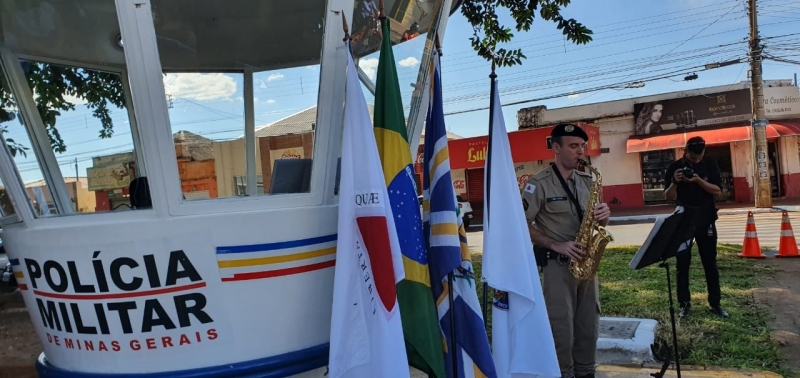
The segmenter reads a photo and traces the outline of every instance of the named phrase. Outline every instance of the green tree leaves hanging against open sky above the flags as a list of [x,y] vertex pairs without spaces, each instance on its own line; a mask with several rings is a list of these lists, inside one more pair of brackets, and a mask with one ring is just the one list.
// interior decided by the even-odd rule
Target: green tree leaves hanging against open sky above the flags
[[569,3],[570,0],[466,0],[461,5],[461,14],[472,25],[470,43],[478,56],[500,67],[514,66],[522,64],[522,59],[527,56],[522,49],[497,48],[498,44],[514,38],[511,28],[500,24],[498,8],[505,8],[511,14],[517,31],[530,30],[538,11],[542,19],[556,23],[568,40],[579,45],[589,43],[592,40],[591,30],[575,19],[561,16],[561,9]]

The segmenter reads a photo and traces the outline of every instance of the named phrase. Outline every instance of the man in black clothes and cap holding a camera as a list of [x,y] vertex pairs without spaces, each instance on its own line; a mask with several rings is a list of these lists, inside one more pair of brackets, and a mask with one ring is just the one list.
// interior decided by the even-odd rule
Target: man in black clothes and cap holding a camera
[[[664,182],[670,185],[664,192],[668,201],[677,200],[678,206],[697,212],[697,229],[694,240],[703,262],[703,270],[708,286],[708,304],[711,312],[727,318],[728,313],[720,306],[719,271],[717,269],[717,206],[714,196],[722,193],[719,166],[717,162],[705,157],[706,142],[702,137],[693,137],[686,142],[684,155],[670,164]],[[679,252],[678,260],[678,303],[680,317],[691,313],[691,294],[689,293],[689,266],[692,263],[691,249]]]

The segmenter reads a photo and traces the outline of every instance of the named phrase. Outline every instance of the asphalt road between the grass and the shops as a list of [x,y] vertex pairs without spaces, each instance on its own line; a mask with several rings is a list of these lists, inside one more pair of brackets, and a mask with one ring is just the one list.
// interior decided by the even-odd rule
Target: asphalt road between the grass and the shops
[[[763,213],[753,216],[756,232],[762,248],[778,248],[781,232],[781,213]],[[792,228],[800,227],[800,213],[789,213]],[[719,242],[723,244],[742,244],[744,230],[747,225],[747,214],[722,215],[717,220]],[[653,223],[627,224],[609,226],[614,241],[609,246],[641,245],[653,228]],[[797,236],[795,236],[797,238]],[[483,229],[481,226],[470,227],[467,232],[470,249],[480,252],[483,249]]]

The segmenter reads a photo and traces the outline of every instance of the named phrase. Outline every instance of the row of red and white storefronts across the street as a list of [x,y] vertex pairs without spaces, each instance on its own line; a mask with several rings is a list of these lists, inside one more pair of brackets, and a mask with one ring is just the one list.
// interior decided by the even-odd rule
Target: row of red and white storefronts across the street
[[[773,198],[800,199],[800,96],[791,80],[765,82],[768,170]],[[602,197],[612,209],[666,204],[666,169],[683,156],[693,136],[706,140],[706,156],[717,161],[720,202],[750,204],[754,158],[749,83],[589,104],[561,109],[521,109],[518,131],[508,133],[520,188],[553,161],[549,135],[571,122],[590,136],[588,161],[603,175]],[[450,167],[456,192],[469,200],[476,217],[483,209],[488,137],[450,140]],[[422,173],[422,147],[416,170]],[[421,176],[420,176],[421,177]],[[421,179],[420,181],[421,182]]]

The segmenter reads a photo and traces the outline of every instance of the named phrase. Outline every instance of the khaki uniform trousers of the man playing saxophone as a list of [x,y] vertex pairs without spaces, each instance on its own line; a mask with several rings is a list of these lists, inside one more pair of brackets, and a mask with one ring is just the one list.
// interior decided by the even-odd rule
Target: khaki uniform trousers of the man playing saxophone
[[548,260],[542,281],[561,377],[593,374],[600,328],[597,276],[579,281],[570,273],[568,260]]

